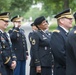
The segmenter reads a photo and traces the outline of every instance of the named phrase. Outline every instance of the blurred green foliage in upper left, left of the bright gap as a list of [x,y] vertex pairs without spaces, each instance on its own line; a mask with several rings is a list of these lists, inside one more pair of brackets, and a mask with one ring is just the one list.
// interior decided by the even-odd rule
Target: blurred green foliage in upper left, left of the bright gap
[[33,0],[0,0],[0,12],[9,11],[11,16],[23,16],[32,4]]

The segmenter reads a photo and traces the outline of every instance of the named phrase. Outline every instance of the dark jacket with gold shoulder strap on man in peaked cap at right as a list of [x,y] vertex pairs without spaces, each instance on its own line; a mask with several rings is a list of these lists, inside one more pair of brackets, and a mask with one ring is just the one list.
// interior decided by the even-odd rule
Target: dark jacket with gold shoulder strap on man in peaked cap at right
[[[60,26],[51,36],[51,47],[54,56],[54,75],[65,75],[67,33]],[[58,71],[58,69],[60,69]]]

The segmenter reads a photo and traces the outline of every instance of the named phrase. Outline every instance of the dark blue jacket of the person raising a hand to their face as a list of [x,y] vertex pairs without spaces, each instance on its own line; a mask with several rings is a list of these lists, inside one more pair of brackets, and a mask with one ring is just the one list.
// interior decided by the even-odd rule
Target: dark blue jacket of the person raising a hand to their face
[[24,30],[13,27],[13,29],[9,31],[9,34],[17,60],[26,60],[28,52]]

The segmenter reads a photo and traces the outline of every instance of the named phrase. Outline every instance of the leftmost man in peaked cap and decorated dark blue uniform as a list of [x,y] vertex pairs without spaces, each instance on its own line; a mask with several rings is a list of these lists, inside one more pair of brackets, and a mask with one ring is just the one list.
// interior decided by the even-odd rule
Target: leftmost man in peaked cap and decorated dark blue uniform
[[[8,26],[9,14],[9,12],[0,13],[0,75],[13,75],[16,67],[16,56],[12,50],[9,34],[4,32]],[[6,72],[3,70],[4,66]]]

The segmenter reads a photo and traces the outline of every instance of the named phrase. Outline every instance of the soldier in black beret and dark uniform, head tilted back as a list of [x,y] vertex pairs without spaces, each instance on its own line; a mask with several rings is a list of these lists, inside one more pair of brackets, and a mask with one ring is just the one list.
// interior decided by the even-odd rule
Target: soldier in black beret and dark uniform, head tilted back
[[46,29],[48,24],[44,16],[34,21],[38,30],[33,32],[31,40],[30,75],[51,75],[52,54],[50,47],[50,36]]

